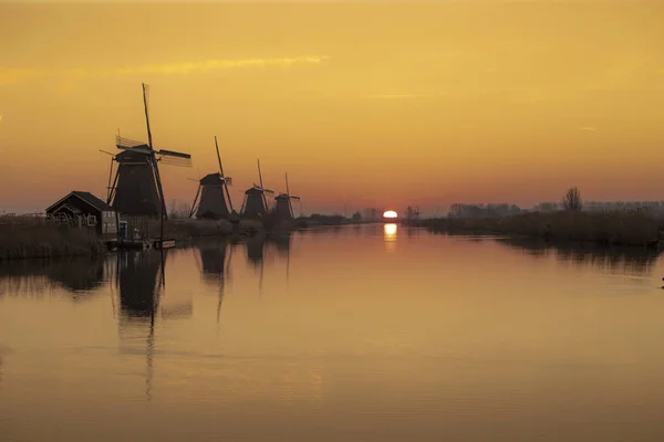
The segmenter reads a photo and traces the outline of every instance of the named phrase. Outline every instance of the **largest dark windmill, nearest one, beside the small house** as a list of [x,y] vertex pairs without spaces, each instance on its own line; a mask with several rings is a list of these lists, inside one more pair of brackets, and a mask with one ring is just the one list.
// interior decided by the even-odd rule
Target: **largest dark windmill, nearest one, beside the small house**
[[154,149],[147,112],[147,94],[148,86],[143,83],[147,144],[123,138],[120,134],[116,136],[115,146],[123,151],[113,157],[117,162],[117,170],[113,183],[108,181],[107,202],[122,214],[165,219],[167,218],[166,201],[157,164],[190,166],[191,156],[173,150]]

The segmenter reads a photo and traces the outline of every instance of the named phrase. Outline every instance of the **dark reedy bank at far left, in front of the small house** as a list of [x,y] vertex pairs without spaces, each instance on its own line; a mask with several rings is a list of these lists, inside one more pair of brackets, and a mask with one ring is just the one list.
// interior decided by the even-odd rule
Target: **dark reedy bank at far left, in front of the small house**
[[95,256],[104,252],[103,242],[87,229],[72,229],[34,217],[0,217],[0,261]]

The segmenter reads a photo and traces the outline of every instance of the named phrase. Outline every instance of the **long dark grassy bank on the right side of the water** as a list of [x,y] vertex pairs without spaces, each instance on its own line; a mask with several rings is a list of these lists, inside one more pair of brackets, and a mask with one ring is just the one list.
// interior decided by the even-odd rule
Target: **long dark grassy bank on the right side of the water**
[[450,234],[501,234],[603,245],[647,245],[660,238],[661,220],[643,212],[529,212],[502,218],[447,218],[421,225]]

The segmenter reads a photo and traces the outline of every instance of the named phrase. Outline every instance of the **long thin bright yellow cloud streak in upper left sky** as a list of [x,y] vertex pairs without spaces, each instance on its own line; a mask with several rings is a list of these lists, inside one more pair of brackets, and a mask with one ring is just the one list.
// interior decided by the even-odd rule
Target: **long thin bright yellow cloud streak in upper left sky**
[[0,67],[0,86],[23,83],[35,77],[60,77],[61,80],[82,77],[107,77],[129,75],[188,75],[194,73],[206,73],[211,71],[225,71],[235,69],[288,69],[299,64],[320,64],[330,57],[326,55],[303,55],[290,57],[267,59],[219,59],[198,62],[145,64],[137,66],[108,67],[108,69],[62,69],[62,70],[35,70]]

